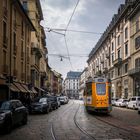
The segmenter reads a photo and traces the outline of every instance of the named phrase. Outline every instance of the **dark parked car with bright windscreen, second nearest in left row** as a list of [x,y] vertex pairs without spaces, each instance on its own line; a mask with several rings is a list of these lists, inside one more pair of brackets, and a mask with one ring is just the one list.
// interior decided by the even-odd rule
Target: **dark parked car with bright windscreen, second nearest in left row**
[[33,112],[40,112],[40,113],[49,113],[51,110],[51,104],[48,101],[48,98],[42,97],[42,98],[37,98],[31,103],[30,105],[30,113]]

